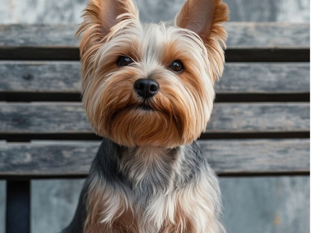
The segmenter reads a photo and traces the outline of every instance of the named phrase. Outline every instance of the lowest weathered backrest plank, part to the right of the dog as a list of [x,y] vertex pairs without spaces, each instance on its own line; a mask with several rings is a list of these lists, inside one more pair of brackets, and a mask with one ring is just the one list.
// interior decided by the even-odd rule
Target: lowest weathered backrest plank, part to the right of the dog
[[217,173],[309,171],[310,139],[198,140],[197,143]]

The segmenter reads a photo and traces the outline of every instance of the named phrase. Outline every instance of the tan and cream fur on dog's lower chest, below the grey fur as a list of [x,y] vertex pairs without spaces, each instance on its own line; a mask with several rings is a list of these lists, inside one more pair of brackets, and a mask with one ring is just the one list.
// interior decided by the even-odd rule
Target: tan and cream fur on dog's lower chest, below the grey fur
[[[209,186],[218,185],[216,180],[212,181],[216,183],[204,176],[198,177],[195,184],[155,196],[146,206],[134,204],[128,195],[105,189],[102,182],[95,182],[89,190],[84,233],[225,232],[214,215],[215,206],[219,205],[215,203],[219,190],[216,188],[216,192],[211,193]],[[156,215],[155,221],[153,215]]]

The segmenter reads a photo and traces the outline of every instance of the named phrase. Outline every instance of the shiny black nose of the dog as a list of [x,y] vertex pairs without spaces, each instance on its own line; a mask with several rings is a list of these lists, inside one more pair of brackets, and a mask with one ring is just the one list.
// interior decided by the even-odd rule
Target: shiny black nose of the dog
[[159,84],[151,79],[137,79],[134,88],[140,96],[148,98],[156,94]]

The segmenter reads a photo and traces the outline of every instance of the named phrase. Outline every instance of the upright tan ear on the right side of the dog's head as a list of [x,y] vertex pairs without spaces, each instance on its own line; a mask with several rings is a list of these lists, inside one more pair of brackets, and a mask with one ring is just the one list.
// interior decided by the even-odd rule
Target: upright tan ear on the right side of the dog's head
[[225,61],[223,48],[227,34],[221,23],[229,20],[227,4],[222,0],[187,0],[175,18],[175,25],[198,34],[207,48],[214,67],[213,79],[218,80]]

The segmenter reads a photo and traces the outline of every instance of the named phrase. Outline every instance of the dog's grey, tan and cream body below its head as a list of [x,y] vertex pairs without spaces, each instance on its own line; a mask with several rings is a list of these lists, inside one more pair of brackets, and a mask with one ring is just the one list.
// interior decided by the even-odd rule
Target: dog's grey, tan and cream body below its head
[[64,232],[222,232],[219,208],[216,175],[197,144],[155,151],[104,139]]

